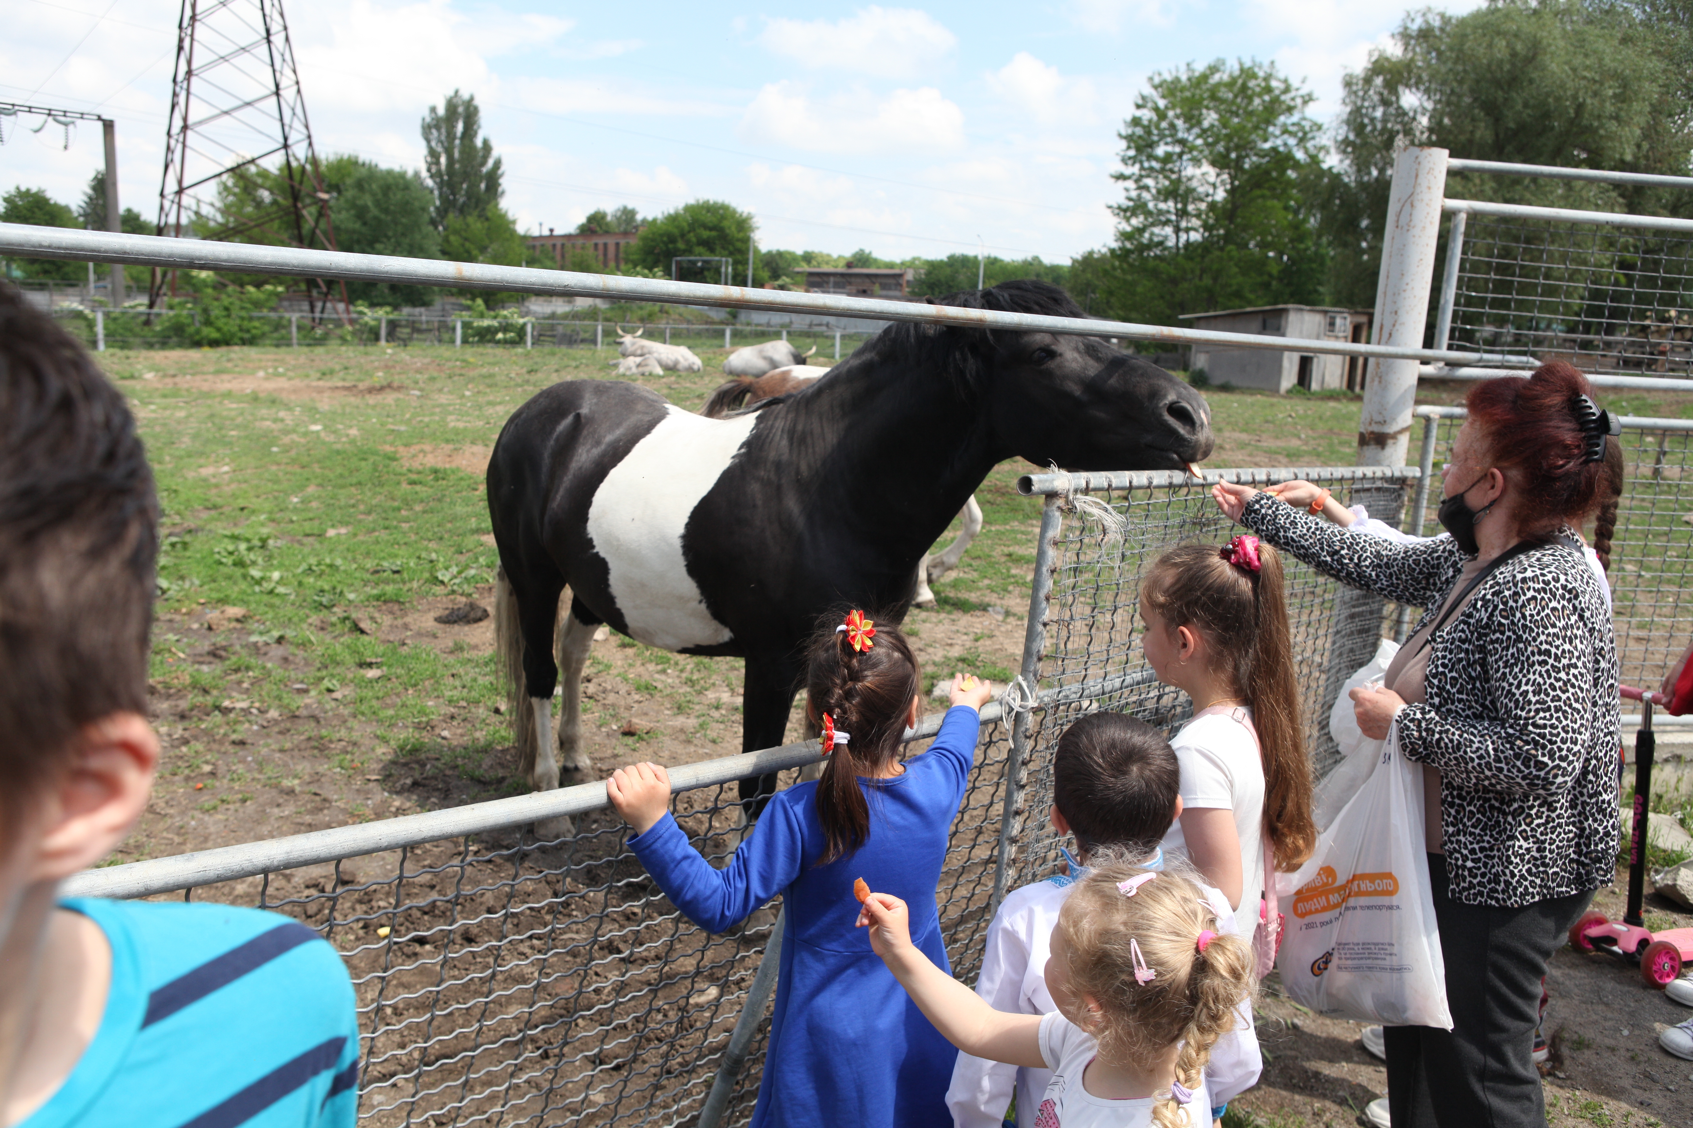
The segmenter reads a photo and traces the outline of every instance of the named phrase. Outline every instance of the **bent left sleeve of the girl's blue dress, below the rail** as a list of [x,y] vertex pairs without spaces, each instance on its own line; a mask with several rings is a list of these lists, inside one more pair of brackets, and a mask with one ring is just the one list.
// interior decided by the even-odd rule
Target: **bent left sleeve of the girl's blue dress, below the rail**
[[628,846],[684,917],[706,932],[723,932],[799,876],[804,839],[799,803],[791,795],[792,790],[780,791],[770,800],[723,869],[713,869],[699,856],[669,812]]

